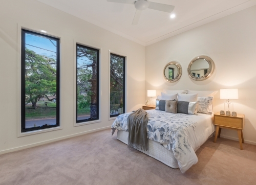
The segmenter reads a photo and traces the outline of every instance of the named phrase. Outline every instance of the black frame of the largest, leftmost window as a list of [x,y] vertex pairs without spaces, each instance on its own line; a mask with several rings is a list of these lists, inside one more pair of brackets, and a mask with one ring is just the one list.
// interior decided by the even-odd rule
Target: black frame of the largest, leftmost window
[[[56,41],[56,125],[44,125],[32,128],[26,128],[26,115],[25,115],[25,86],[26,86],[26,78],[25,78],[25,70],[26,70],[26,33],[32,34],[35,36],[45,37],[51,40]],[[47,129],[52,127],[59,127],[59,79],[60,79],[60,39],[56,37],[52,37],[46,34],[22,29],[22,47],[21,47],[21,132],[29,132],[34,130]]]

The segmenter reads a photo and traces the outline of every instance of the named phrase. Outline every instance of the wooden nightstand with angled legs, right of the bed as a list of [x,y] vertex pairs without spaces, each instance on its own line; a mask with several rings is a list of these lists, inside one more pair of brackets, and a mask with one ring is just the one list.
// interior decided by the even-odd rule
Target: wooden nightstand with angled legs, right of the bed
[[238,138],[240,143],[240,149],[243,150],[244,136],[244,114],[238,114],[237,117],[230,115],[220,115],[220,112],[214,114],[214,124],[217,125],[214,143],[216,143],[217,136],[221,135],[221,128],[227,128],[238,131]]

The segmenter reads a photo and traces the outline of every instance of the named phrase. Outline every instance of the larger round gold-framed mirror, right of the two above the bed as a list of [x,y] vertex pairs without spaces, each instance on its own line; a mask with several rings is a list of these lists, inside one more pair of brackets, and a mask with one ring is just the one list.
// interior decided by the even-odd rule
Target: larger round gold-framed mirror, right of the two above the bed
[[187,67],[188,76],[197,81],[209,78],[214,72],[214,61],[207,56],[195,57]]

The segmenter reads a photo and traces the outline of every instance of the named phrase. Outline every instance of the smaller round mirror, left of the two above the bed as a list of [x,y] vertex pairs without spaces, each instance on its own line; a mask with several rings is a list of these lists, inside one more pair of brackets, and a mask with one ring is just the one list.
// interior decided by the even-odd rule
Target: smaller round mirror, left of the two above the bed
[[165,65],[163,70],[163,76],[168,82],[176,82],[180,79],[182,74],[182,68],[179,62],[169,62]]

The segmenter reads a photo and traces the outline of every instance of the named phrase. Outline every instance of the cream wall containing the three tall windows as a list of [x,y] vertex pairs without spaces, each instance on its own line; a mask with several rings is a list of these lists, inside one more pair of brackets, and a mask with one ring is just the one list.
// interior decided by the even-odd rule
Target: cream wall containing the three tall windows
[[[0,154],[54,141],[81,132],[108,127],[109,121],[109,50],[127,56],[126,111],[142,106],[145,95],[145,47],[89,22],[34,0],[2,1],[0,6]],[[63,129],[17,137],[20,114],[17,83],[18,25],[45,30],[61,37],[60,124]],[[74,127],[74,40],[101,48],[100,111],[101,122]]]

